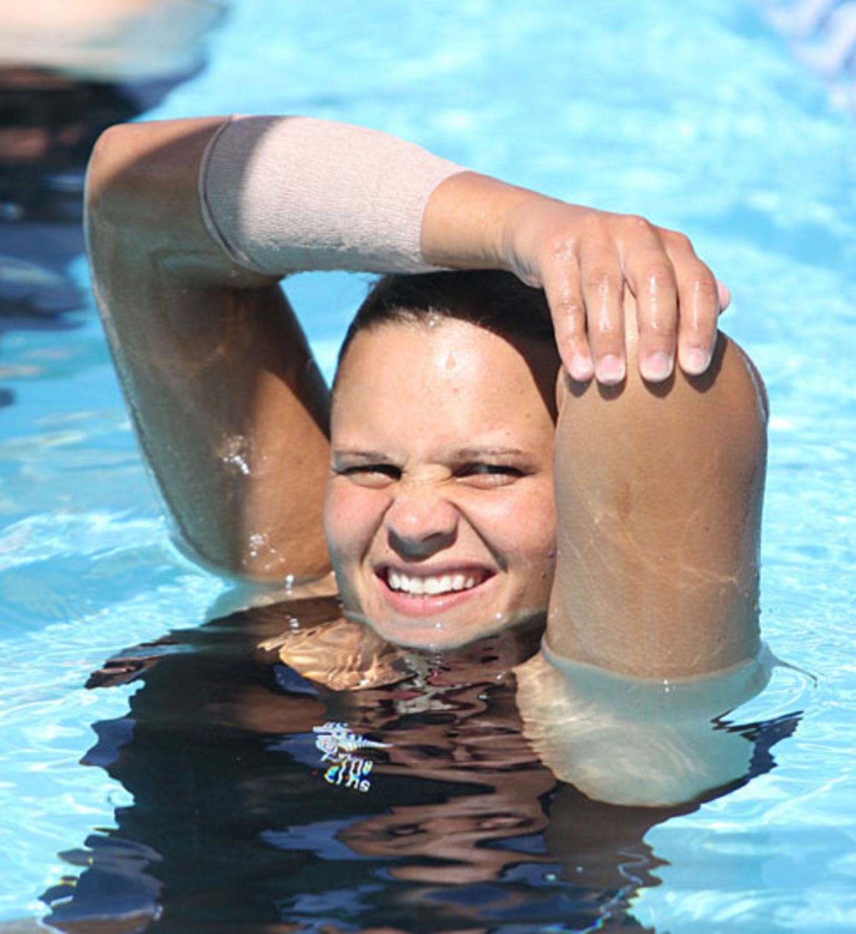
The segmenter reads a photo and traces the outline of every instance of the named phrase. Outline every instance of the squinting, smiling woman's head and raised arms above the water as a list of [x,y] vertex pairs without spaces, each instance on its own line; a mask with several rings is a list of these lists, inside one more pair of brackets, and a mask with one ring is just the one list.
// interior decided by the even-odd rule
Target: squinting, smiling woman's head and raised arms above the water
[[[87,229],[198,559],[266,581],[332,564],[344,616],[417,649],[549,608],[549,658],[621,675],[757,653],[763,389],[686,238],[299,118],[108,131]],[[329,268],[399,274],[357,314],[332,406],[278,285]],[[281,657],[311,674],[329,644]]]

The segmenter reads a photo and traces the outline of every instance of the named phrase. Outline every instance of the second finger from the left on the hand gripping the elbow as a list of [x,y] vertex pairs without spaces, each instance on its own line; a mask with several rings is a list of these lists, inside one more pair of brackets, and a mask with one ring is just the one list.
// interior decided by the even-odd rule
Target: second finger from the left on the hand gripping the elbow
[[624,346],[624,276],[614,241],[592,235],[581,242],[579,277],[594,373],[605,386],[627,374]]

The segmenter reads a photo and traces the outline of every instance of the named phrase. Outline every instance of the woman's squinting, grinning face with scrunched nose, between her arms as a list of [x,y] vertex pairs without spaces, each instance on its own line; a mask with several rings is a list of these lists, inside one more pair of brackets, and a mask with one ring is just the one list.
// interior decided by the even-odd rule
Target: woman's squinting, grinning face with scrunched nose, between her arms
[[349,616],[449,647],[545,611],[556,369],[545,345],[455,319],[354,339],[324,512]]

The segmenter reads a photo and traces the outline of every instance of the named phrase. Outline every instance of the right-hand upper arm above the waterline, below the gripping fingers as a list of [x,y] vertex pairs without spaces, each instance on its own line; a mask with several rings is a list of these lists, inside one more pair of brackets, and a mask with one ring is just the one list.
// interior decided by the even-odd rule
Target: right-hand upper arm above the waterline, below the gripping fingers
[[631,365],[561,395],[549,644],[653,678],[751,658],[766,400],[746,355],[720,334],[704,375],[649,385]]

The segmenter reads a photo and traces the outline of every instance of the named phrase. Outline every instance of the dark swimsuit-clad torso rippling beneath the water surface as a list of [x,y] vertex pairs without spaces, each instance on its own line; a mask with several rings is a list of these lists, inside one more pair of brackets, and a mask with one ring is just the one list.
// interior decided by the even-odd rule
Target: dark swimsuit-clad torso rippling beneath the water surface
[[[64,855],[81,871],[45,893],[48,922],[181,934],[640,927],[630,902],[660,865],[645,834],[700,801],[618,807],[557,782],[522,735],[511,673],[537,628],[443,655],[392,648],[363,690],[310,681],[255,647],[298,618],[298,642],[336,631],[337,612],[316,599],[238,613],[93,676],[141,684],[127,716],[96,725],[85,759],[134,803]],[[753,773],[794,725],[751,728]],[[334,734],[370,763],[363,789],[330,780],[334,751],[319,738]]]

